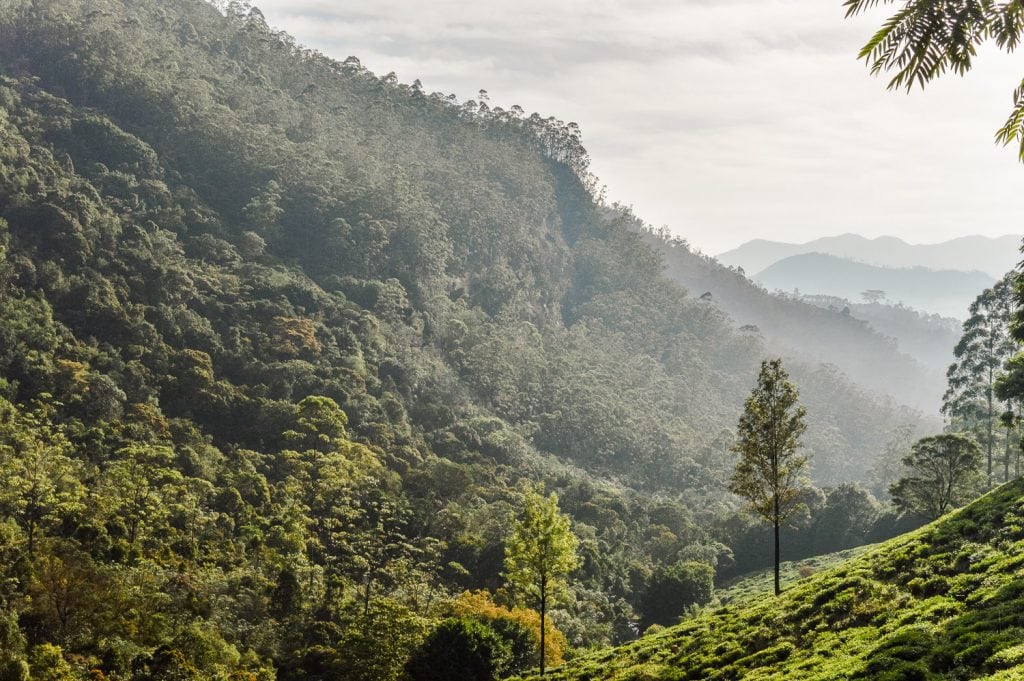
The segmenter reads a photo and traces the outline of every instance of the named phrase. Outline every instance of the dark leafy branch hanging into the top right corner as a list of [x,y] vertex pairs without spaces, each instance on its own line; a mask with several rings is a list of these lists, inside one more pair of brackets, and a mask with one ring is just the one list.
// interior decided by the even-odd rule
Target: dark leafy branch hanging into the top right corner
[[[853,16],[896,0],[846,0]],[[890,88],[924,87],[952,72],[963,76],[986,42],[1006,51],[1017,49],[1024,34],[1024,4],[1016,0],[906,0],[860,50],[872,74],[893,74]],[[1024,162],[1024,80],[1014,91],[1007,122],[995,133],[1002,144],[1018,142]]]

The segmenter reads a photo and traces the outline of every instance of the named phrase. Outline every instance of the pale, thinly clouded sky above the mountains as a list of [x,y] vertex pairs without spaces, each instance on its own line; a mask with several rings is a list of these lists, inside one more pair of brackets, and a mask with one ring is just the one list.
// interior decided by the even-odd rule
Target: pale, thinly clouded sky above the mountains
[[[841,0],[256,0],[269,24],[428,91],[575,121],[608,198],[706,253],[856,231],[1021,232],[993,133],[1024,76],[985,53],[907,95]],[[891,9],[891,7],[890,7]],[[1024,65],[1022,65],[1024,66]]]

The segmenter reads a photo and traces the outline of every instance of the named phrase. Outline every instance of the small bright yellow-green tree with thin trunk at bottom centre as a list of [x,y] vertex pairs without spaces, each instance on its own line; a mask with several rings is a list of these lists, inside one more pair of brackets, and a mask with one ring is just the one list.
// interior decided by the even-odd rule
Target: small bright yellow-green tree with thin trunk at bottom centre
[[517,599],[541,613],[541,676],[548,607],[568,593],[566,578],[580,564],[579,544],[568,516],[558,510],[558,497],[527,491],[519,521],[505,542],[505,579]]

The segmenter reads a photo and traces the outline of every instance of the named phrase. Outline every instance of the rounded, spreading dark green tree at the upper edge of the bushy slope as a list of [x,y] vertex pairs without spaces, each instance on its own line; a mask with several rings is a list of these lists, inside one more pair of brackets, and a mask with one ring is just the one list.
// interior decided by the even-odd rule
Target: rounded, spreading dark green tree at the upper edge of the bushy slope
[[923,437],[903,459],[910,474],[891,488],[893,502],[900,508],[929,518],[972,498],[978,488],[981,450],[963,433]]

